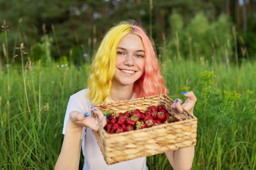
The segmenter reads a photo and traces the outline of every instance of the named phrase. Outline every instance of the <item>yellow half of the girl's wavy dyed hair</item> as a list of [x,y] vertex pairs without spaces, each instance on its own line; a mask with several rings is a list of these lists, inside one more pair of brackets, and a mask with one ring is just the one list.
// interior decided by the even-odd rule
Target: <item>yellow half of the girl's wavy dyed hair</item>
[[101,41],[90,66],[88,77],[88,97],[92,104],[106,102],[112,88],[111,80],[115,74],[117,46],[125,35],[132,32],[133,29],[129,22],[121,22],[112,27]]

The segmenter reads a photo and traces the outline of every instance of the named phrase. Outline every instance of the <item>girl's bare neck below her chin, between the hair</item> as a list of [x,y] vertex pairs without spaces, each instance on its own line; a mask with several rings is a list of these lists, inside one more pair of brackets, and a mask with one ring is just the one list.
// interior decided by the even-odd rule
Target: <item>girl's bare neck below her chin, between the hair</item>
[[133,84],[129,86],[115,86],[115,84],[112,84],[109,98],[115,102],[121,100],[130,100],[133,93]]

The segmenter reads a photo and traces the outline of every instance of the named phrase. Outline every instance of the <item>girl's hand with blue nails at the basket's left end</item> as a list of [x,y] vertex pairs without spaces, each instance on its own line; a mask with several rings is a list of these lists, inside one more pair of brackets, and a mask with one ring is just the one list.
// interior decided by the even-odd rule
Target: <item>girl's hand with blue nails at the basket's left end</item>
[[[93,107],[91,108],[91,111],[99,117],[102,126],[106,126],[107,121],[101,110]],[[90,117],[89,113],[83,114],[78,111],[72,111],[69,115],[71,123],[74,127],[79,128],[85,126],[91,128],[92,130],[99,131],[99,122],[94,117]]]

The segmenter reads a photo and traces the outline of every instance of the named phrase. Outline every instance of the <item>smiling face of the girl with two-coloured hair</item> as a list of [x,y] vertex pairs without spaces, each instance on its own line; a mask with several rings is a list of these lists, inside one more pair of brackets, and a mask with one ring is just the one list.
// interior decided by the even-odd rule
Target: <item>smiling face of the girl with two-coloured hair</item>
[[139,35],[129,33],[117,46],[113,85],[128,86],[144,73],[145,50]]

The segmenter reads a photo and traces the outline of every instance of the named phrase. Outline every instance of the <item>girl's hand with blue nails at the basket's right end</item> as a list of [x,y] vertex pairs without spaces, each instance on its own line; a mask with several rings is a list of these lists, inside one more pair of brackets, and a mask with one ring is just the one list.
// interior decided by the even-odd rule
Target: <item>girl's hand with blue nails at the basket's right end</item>
[[178,119],[182,117],[184,110],[193,115],[193,109],[196,102],[195,94],[192,91],[183,92],[182,94],[188,97],[184,104],[182,104],[181,99],[175,99],[174,103],[171,105],[171,111],[177,115]]

